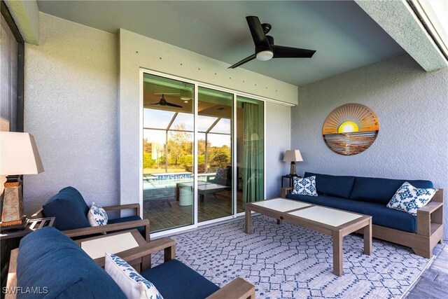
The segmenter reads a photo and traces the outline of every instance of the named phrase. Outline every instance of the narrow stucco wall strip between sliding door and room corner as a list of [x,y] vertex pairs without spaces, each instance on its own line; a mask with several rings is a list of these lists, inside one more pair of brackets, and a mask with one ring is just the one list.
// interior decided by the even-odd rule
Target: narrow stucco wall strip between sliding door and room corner
[[280,196],[281,176],[289,173],[283,154],[290,149],[290,111],[290,107],[266,103],[266,198]]

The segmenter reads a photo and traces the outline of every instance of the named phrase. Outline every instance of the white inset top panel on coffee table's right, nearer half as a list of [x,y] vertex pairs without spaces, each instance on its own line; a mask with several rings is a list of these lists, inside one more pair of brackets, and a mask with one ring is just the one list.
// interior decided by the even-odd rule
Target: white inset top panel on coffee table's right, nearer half
[[340,211],[321,206],[309,207],[299,211],[290,211],[288,214],[331,226],[339,226],[363,216],[360,214],[351,213],[349,211]]

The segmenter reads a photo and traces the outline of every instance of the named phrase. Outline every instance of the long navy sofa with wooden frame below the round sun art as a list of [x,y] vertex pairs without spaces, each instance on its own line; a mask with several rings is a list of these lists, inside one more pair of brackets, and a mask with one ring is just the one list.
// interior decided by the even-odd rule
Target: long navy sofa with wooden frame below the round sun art
[[[433,188],[431,181],[332,176],[305,172],[304,177],[308,176],[316,176],[318,196],[290,194],[288,191],[291,188],[283,188],[282,197],[370,215],[373,223],[373,237],[410,246],[421,256],[430,257],[435,244],[442,242],[442,190],[437,191],[432,202],[421,209],[420,217],[386,207],[405,181],[416,188]],[[430,219],[431,214],[436,218],[433,222]],[[420,218],[421,221],[417,221]],[[433,226],[435,231],[421,235],[419,224],[422,226],[420,230],[423,230],[423,225],[426,225]]]

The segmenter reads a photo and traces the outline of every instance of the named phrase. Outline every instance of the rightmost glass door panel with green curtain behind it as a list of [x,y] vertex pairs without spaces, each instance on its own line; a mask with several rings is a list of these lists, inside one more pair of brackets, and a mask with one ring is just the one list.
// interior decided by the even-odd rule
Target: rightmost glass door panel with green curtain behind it
[[264,103],[237,97],[237,212],[265,198]]

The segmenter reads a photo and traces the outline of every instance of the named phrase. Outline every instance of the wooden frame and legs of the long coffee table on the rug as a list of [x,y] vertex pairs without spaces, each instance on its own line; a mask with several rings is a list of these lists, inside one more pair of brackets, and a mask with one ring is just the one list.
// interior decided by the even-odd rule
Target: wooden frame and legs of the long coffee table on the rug
[[[298,202],[297,200],[291,200],[291,202]],[[307,202],[302,202],[308,204]],[[364,235],[364,254],[370,256],[372,253],[372,216],[367,216],[363,214],[352,213],[344,211],[341,209],[333,209],[325,207],[326,209],[333,209],[336,211],[344,211],[345,213],[360,215],[352,221],[344,223],[339,226],[332,226],[318,221],[312,221],[307,218],[302,218],[300,216],[295,216],[288,214],[291,211],[299,211],[302,209],[308,209],[310,207],[323,207],[317,204],[309,204],[307,207],[302,207],[299,209],[291,209],[289,211],[276,211],[274,209],[269,209],[267,207],[260,207],[257,204],[248,203],[246,204],[246,233],[250,234],[252,232],[252,217],[251,211],[258,212],[265,216],[273,217],[277,219],[277,224],[281,224],[282,221],[288,223],[299,225],[316,232],[321,232],[325,235],[332,236],[333,241],[333,274],[341,276],[343,273],[342,267],[342,239],[344,236],[356,232],[356,230],[363,230]]]

